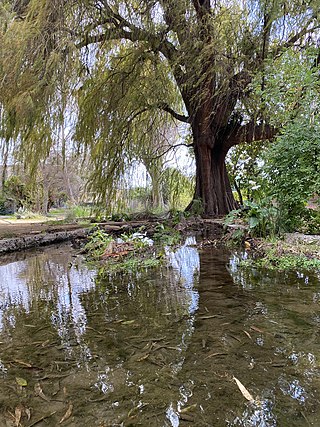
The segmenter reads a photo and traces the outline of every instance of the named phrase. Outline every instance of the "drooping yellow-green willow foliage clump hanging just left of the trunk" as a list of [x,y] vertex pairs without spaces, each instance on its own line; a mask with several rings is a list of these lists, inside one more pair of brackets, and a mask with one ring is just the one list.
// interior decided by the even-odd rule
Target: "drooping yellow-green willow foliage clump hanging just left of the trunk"
[[153,55],[141,60],[142,52],[130,45],[116,51],[97,59],[78,91],[75,137],[90,150],[91,178],[102,201],[116,196],[115,183],[130,162],[161,154],[156,141],[170,118],[164,111],[159,114],[159,100],[178,106],[179,99],[165,62]]

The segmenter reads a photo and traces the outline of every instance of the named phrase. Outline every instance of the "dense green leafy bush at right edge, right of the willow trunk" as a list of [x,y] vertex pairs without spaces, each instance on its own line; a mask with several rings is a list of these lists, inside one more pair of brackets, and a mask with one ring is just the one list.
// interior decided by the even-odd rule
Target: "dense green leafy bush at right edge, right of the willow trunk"
[[320,189],[319,131],[306,120],[290,123],[265,157],[269,193],[289,231],[301,226],[307,201]]

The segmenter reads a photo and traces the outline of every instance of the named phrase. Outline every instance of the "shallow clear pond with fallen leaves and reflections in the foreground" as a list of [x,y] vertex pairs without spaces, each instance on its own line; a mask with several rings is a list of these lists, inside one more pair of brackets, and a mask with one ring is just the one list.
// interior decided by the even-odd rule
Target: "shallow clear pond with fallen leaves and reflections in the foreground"
[[122,275],[2,257],[0,426],[319,426],[319,277],[193,243]]

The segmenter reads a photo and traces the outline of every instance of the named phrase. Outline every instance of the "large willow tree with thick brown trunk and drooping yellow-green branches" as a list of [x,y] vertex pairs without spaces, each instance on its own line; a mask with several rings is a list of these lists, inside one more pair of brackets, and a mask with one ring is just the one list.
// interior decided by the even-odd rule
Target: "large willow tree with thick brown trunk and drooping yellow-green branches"
[[[230,148],[273,135],[266,64],[316,46],[319,29],[318,0],[21,0],[5,11],[13,18],[2,46],[15,34],[22,46],[11,51],[14,72],[6,54],[1,61],[11,116],[18,97],[39,122],[59,61],[67,62],[80,77],[77,139],[91,150],[100,193],[133,155],[136,131],[146,142],[150,123],[172,118],[191,128],[194,198],[210,216],[236,206],[225,167]],[[257,77],[259,105],[251,99]]]

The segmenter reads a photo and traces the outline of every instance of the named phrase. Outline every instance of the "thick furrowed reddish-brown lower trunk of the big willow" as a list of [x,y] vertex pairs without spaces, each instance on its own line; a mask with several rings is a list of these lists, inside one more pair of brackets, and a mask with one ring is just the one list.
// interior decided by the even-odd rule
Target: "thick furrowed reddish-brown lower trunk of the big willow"
[[[218,136],[218,131],[196,115],[192,123],[196,160],[196,188],[193,198],[200,200],[204,216],[226,215],[238,204],[232,194],[225,158],[228,150]],[[207,124],[206,124],[207,123]],[[189,205],[190,208],[193,204]],[[187,208],[187,209],[188,209]]]

